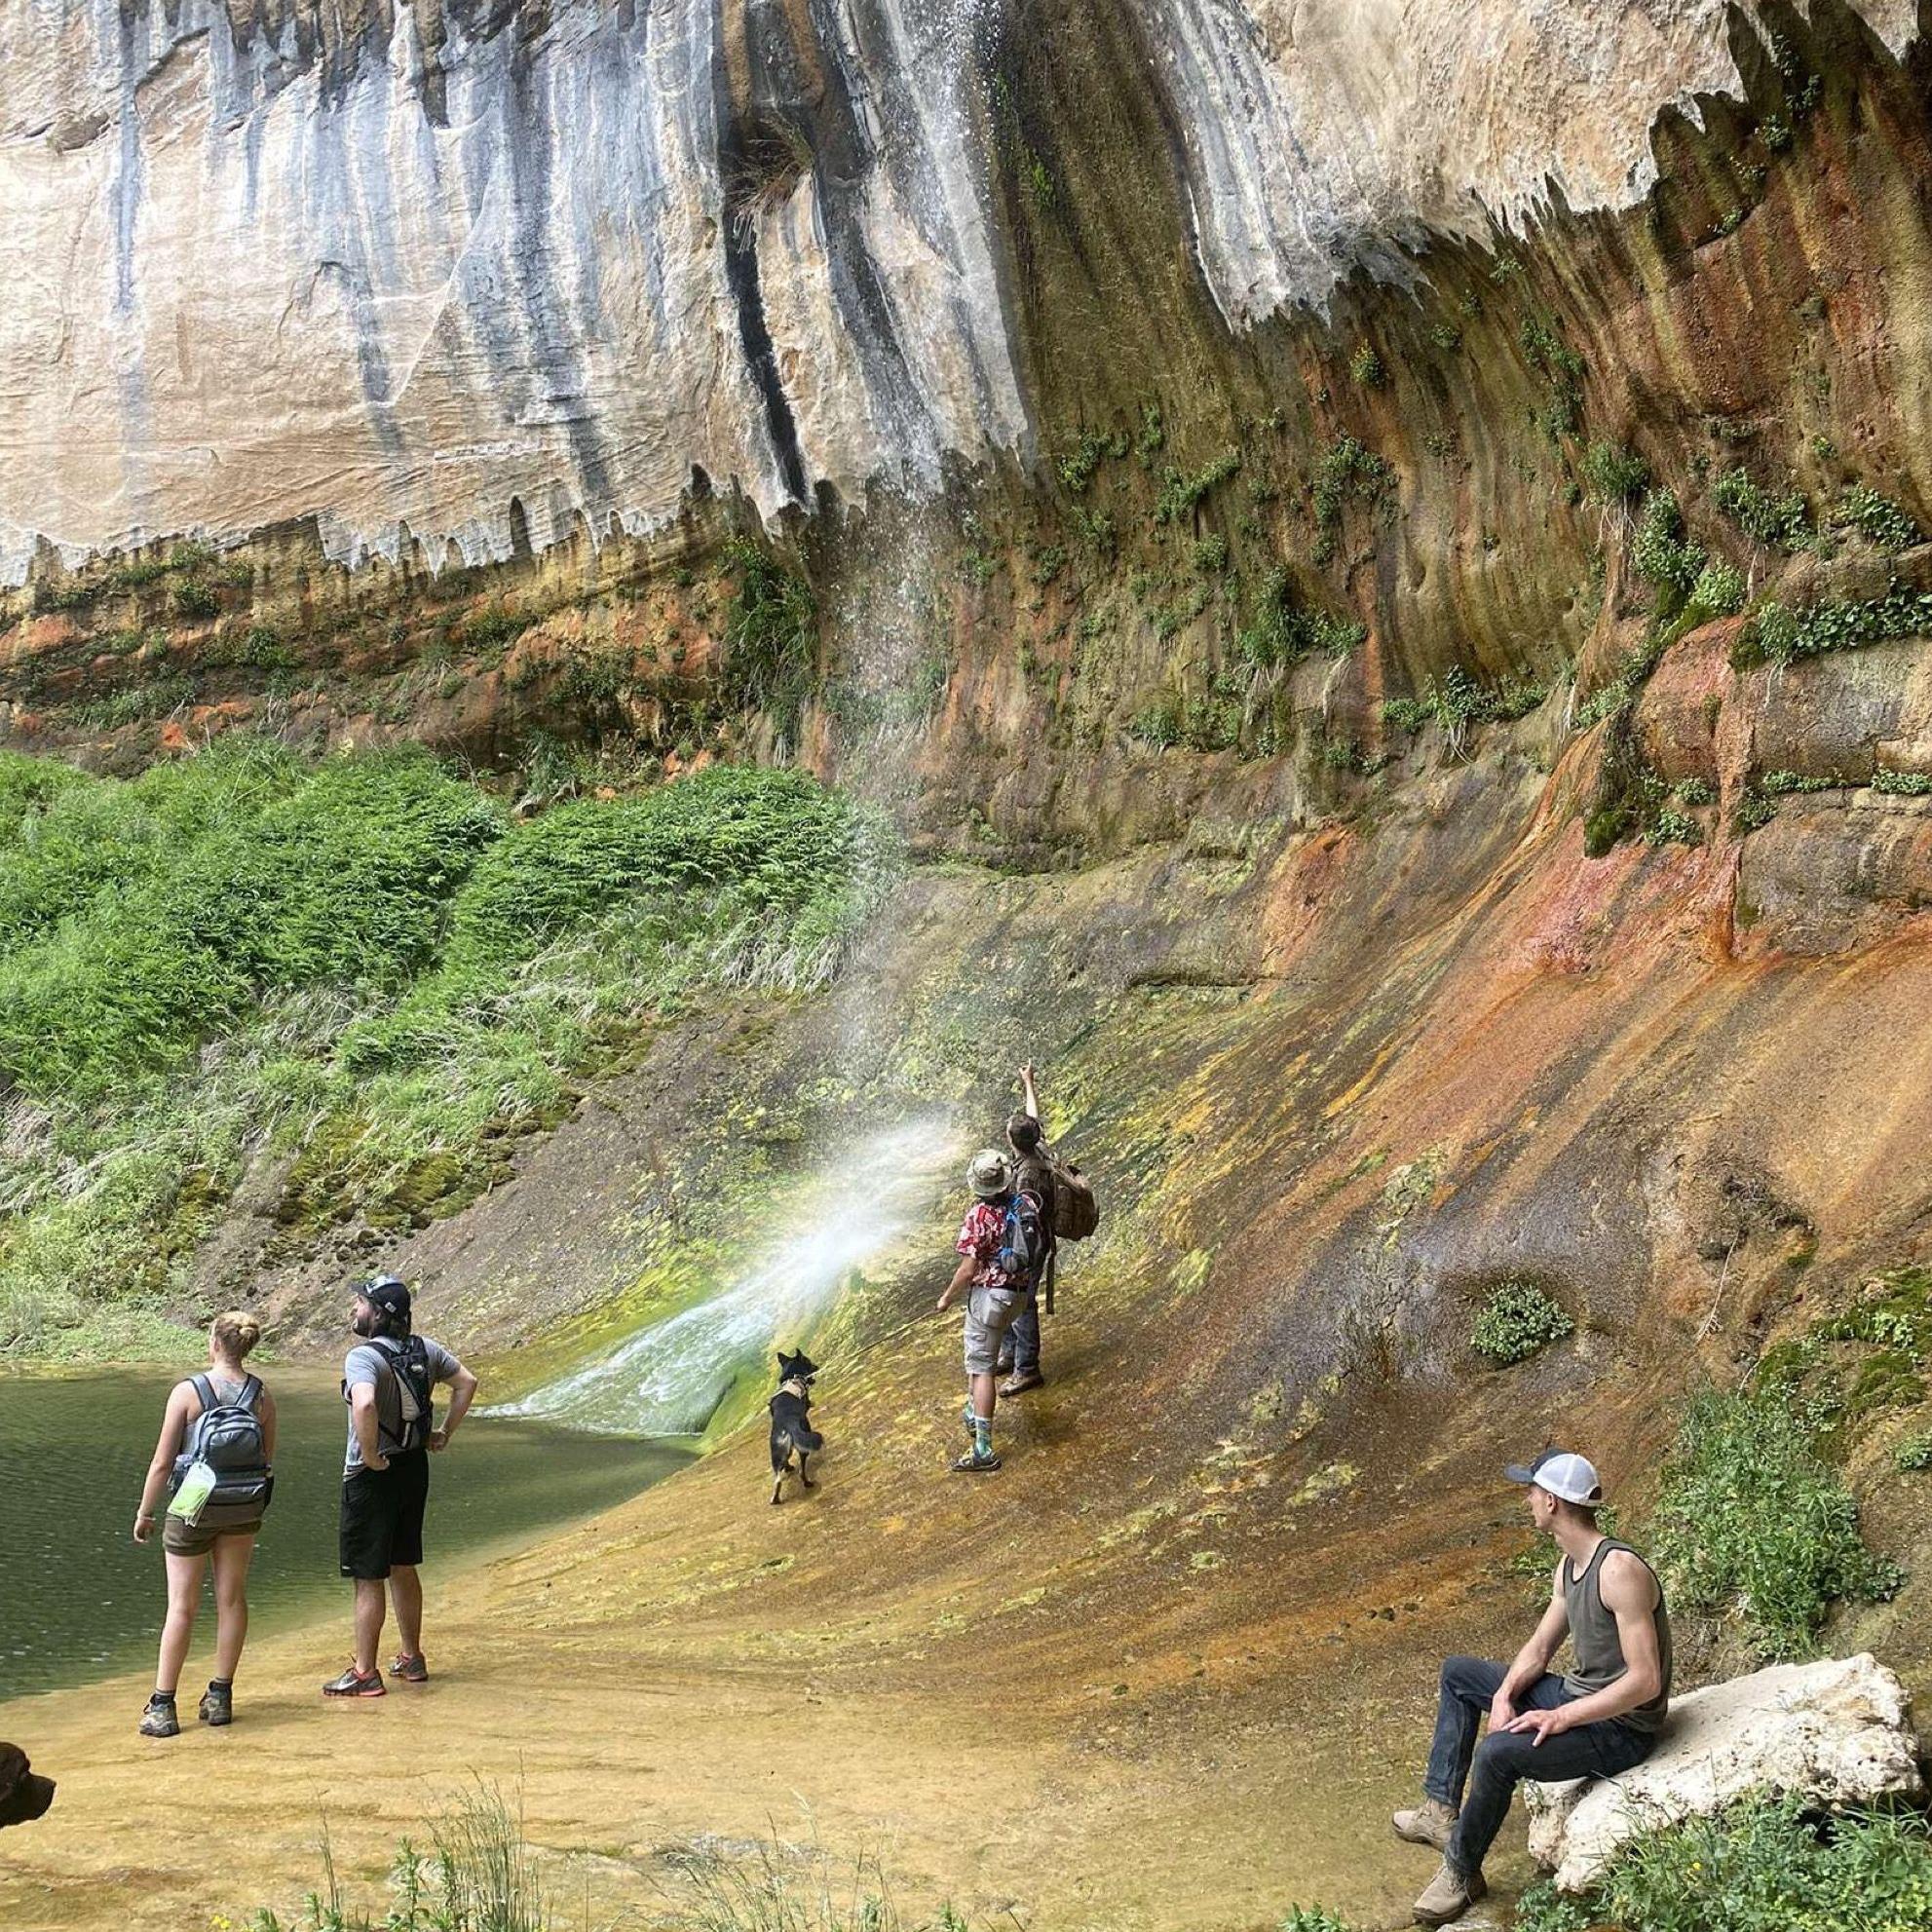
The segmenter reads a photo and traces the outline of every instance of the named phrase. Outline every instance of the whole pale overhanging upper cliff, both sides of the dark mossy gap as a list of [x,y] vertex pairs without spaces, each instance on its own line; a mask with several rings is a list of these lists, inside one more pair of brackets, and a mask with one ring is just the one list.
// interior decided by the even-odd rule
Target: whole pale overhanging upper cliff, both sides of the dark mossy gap
[[0,568],[307,516],[502,556],[694,469],[769,516],[1028,454],[987,71],[1097,4],[1235,325],[1546,180],[1631,199],[1735,83],[1721,0],[0,0]]

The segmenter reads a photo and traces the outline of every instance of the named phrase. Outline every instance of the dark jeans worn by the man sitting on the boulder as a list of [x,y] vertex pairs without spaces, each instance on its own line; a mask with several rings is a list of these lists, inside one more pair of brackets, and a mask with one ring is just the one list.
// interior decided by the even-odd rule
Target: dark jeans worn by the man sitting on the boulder
[[[1636,1731],[1607,1718],[1604,1723],[1580,1723],[1542,1745],[1534,1735],[1517,1731],[1492,1731],[1478,1745],[1476,1725],[1488,1716],[1507,1675],[1505,1663],[1484,1663],[1480,1658],[1451,1658],[1443,1665],[1435,1743],[1430,1745],[1422,1789],[1432,1799],[1441,1799],[1449,1810],[1463,1810],[1449,1839],[1449,1862],[1464,1876],[1482,1870],[1495,1833],[1503,1830],[1509,1801],[1524,1777],[1542,1785],[1565,1777],[1615,1777],[1633,1764],[1642,1764],[1658,1741],[1654,1731]],[[1555,1710],[1573,1702],[1563,1679],[1546,1673],[1517,1698],[1517,1710]],[[1463,1803],[1464,1783],[1468,1803]]]

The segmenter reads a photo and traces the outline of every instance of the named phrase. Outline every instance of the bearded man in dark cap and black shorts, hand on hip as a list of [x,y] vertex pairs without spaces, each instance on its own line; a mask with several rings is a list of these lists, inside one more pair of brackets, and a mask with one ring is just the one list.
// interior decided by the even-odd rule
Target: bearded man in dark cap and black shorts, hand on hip
[[[323,1696],[383,1696],[383,1584],[396,1605],[402,1654],[390,1677],[429,1681],[423,1662],[423,1509],[429,1453],[448,1447],[477,1393],[477,1378],[442,1343],[412,1333],[410,1291],[394,1275],[355,1287],[355,1347],[342,1364],[350,1447],[342,1466],[342,1575],[355,1578],[355,1662],[323,1685]],[[435,1426],[439,1381],[450,1408]]]

